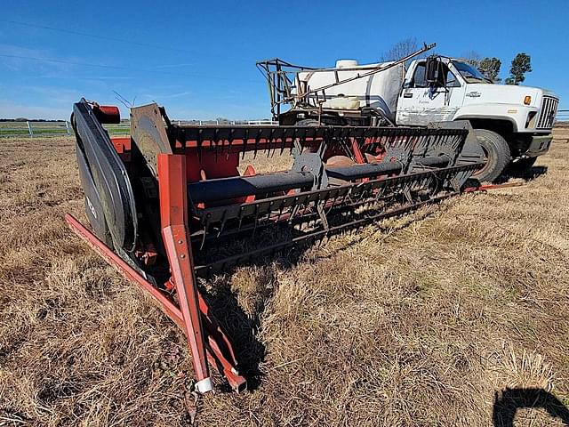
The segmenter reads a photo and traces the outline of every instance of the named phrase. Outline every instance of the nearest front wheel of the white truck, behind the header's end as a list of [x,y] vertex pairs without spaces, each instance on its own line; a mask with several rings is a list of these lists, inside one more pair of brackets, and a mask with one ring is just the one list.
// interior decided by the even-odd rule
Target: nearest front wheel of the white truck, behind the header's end
[[472,175],[478,181],[495,181],[509,164],[508,142],[500,134],[486,129],[475,129],[477,140],[484,151],[485,165]]

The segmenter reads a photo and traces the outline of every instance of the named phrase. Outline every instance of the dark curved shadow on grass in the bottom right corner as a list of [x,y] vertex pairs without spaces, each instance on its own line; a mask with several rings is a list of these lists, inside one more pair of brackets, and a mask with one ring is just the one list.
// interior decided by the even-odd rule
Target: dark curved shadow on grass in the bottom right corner
[[494,427],[513,427],[518,409],[543,408],[549,415],[569,425],[569,408],[543,389],[506,389],[494,395]]

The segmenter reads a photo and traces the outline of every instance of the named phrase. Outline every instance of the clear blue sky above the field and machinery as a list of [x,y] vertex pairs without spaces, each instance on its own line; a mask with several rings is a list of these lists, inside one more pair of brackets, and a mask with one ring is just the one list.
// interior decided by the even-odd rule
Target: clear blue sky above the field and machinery
[[407,37],[448,56],[496,56],[501,77],[527,52],[525,85],[569,108],[569,0],[19,0],[2,11],[0,117],[68,118],[82,96],[116,104],[113,91],[173,118],[269,117],[256,60],[372,62]]

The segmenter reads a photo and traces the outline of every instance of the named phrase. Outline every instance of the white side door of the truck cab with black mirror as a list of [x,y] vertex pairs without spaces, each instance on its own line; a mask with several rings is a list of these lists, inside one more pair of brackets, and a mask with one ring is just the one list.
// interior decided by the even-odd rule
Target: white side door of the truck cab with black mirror
[[440,62],[437,83],[425,80],[425,60],[420,60],[411,80],[405,81],[397,101],[397,125],[424,126],[431,122],[453,120],[464,99],[464,87],[448,68]]

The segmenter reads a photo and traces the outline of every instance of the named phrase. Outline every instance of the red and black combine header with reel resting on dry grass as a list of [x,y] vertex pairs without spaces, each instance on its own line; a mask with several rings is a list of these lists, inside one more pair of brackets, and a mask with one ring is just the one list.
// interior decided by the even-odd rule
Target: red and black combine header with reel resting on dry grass
[[[246,380],[196,277],[459,194],[483,165],[468,122],[175,125],[150,104],[131,109],[130,137],[110,138],[102,124],[117,120],[116,108],[74,105],[92,230],[71,215],[67,221],[185,332],[199,392],[212,390],[210,366],[236,391]],[[281,155],[292,167],[256,173],[240,166]]]

